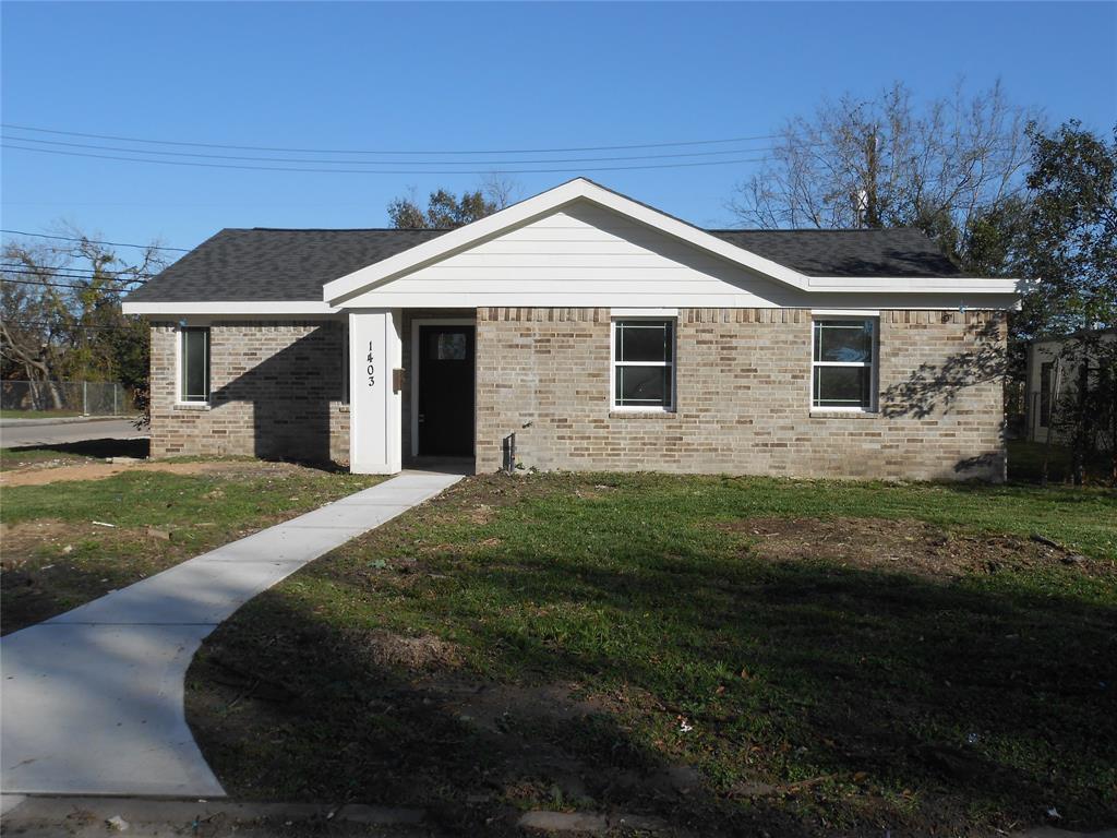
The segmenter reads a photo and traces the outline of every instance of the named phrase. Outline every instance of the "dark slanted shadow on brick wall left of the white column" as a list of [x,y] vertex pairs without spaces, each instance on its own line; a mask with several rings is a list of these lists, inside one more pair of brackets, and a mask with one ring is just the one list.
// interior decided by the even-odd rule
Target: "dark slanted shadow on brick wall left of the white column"
[[251,404],[255,456],[332,465],[330,402],[344,394],[341,341],[323,324],[255,365],[248,358],[244,373],[213,390],[214,407]]

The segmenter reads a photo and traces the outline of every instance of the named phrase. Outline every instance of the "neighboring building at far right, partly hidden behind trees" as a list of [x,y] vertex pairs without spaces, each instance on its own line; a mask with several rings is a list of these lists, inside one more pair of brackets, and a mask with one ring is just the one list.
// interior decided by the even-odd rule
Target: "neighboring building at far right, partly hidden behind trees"
[[[1104,328],[1077,332],[1059,337],[1042,337],[1028,344],[1028,362],[1024,372],[1024,427],[1025,437],[1035,442],[1047,442],[1054,426],[1052,442],[1069,442],[1072,435],[1068,427],[1071,420],[1068,409],[1073,411],[1076,396],[1082,381],[1082,362],[1089,359],[1087,385],[1096,391],[1109,388],[1113,393],[1111,369],[1117,359],[1117,330]],[[1108,378],[1106,370],[1108,368]],[[1094,439],[1089,445],[1095,450],[1111,450],[1117,438],[1115,406],[1095,412]]]

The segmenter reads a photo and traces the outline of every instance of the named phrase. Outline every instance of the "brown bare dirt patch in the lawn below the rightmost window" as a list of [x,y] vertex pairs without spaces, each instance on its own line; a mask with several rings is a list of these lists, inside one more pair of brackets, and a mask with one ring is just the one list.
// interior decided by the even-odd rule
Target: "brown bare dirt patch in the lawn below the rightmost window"
[[748,518],[723,527],[753,536],[751,550],[774,561],[823,560],[932,579],[1022,570],[1052,562],[1088,572],[1109,570],[1047,540],[960,534],[922,521]]

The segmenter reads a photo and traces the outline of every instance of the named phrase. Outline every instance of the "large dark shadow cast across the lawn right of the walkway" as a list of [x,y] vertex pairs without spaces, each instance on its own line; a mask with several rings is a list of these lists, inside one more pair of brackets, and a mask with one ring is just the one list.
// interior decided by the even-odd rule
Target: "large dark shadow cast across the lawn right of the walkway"
[[[704,835],[927,834],[1049,807],[1117,822],[1113,607],[996,569],[938,581],[638,547],[427,563],[402,582],[335,555],[300,574],[330,604],[287,585],[218,629],[188,707],[227,788],[433,806],[464,831],[548,796]],[[378,664],[369,628],[393,608],[384,625],[441,635],[464,666]],[[502,679],[626,697],[497,730],[455,710]],[[696,788],[660,782],[675,763]]]

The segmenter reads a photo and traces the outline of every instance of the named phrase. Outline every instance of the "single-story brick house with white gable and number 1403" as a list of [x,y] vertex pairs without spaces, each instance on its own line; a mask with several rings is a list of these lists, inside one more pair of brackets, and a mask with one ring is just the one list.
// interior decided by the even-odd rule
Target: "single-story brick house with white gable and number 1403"
[[222,230],[124,311],[153,456],[1000,480],[1016,301],[917,231],[704,230],[579,178],[456,230]]

